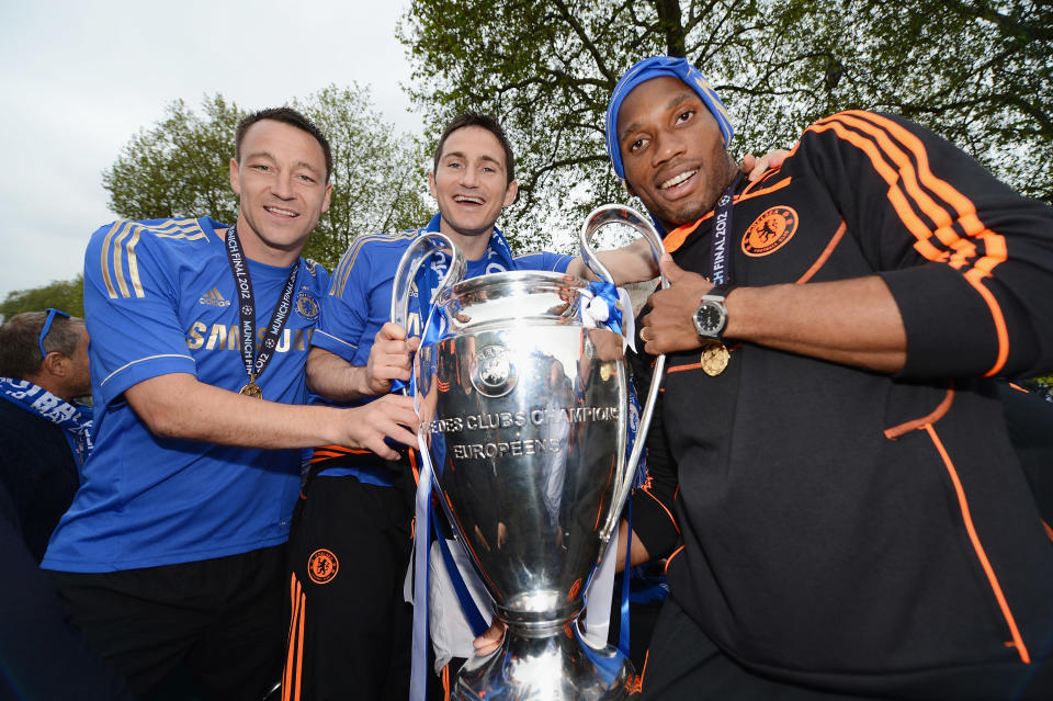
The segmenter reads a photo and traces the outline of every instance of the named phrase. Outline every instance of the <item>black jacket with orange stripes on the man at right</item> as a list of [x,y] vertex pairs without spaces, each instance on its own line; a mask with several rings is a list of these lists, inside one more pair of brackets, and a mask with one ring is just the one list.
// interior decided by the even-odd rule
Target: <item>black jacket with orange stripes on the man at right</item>
[[[680,267],[705,274],[711,224],[666,239]],[[671,596],[728,655],[820,689],[1049,680],[1053,531],[985,376],[1053,369],[1053,211],[910,122],[850,112],[736,195],[727,248],[740,285],[880,274],[907,361],[887,376],[741,343],[709,376],[669,355]]]

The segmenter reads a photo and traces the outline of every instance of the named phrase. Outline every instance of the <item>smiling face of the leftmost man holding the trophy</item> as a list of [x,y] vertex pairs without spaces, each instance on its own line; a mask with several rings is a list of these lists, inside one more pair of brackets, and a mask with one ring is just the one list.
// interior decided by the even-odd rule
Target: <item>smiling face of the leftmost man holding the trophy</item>
[[295,126],[261,120],[241,142],[241,162],[230,159],[230,186],[241,196],[238,237],[250,259],[291,265],[332,186],[318,140]]

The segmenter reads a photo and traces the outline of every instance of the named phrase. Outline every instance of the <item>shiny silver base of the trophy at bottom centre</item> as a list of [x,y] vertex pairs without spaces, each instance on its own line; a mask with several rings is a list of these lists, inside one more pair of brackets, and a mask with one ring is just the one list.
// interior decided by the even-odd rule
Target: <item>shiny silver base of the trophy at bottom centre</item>
[[[633,693],[635,672],[629,658],[613,648],[584,648],[571,622],[546,631],[516,631],[488,657],[461,668],[451,694],[457,701],[615,701]],[[524,634],[526,633],[526,634]],[[604,671],[597,665],[607,667]],[[605,665],[603,663],[607,663]],[[612,668],[613,669],[610,669]]]

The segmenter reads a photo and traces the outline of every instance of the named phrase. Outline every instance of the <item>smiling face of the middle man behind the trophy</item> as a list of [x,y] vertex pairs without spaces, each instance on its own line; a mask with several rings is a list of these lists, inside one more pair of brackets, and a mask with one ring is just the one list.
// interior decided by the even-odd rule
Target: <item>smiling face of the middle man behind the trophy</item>
[[465,126],[446,137],[435,171],[428,174],[428,188],[439,203],[442,233],[472,249],[478,246],[471,239],[489,241],[497,217],[516,201],[519,185],[508,181],[505,149],[497,137],[482,126]]

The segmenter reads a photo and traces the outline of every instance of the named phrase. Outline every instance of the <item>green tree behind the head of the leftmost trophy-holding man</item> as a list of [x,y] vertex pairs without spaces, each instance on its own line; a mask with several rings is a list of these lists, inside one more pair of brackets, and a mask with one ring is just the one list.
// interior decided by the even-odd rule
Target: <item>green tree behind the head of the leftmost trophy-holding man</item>
[[[329,269],[355,235],[419,226],[428,216],[420,146],[397,136],[373,109],[369,90],[330,86],[293,105],[330,142],[332,199],[305,247]],[[110,208],[128,219],[210,215],[234,223],[230,190],[234,133],[246,112],[223,95],[206,98],[202,114],[177,100],[165,118],[141,129],[102,177]]]

